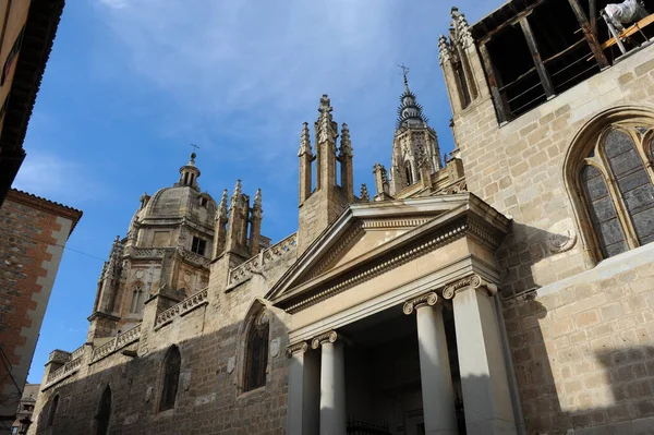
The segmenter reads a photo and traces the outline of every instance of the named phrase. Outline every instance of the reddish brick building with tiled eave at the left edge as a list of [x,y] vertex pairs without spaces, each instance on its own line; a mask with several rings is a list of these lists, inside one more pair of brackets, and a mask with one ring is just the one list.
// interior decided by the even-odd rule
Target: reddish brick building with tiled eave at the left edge
[[80,210],[14,189],[0,207],[0,433],[11,427],[24,396],[63,249],[81,217]]

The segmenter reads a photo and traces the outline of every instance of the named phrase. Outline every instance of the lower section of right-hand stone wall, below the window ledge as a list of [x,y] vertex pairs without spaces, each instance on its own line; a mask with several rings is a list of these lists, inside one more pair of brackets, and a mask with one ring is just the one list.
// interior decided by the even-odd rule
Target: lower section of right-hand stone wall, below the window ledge
[[529,433],[654,427],[654,246],[505,303]]

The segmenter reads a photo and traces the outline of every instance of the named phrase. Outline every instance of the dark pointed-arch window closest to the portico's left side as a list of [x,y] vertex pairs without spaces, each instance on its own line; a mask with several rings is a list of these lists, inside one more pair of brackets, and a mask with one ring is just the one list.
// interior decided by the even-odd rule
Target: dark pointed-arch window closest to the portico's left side
[[266,385],[266,371],[268,367],[268,313],[265,309],[262,309],[251,322],[247,328],[245,347],[244,391]]

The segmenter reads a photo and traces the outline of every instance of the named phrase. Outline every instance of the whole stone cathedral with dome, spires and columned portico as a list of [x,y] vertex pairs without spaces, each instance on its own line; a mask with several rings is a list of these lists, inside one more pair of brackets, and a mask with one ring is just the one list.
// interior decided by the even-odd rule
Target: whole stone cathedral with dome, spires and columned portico
[[455,150],[404,74],[370,192],[323,95],[280,241],[192,154],[113,242],[29,434],[654,433],[654,17],[608,7],[452,8]]

